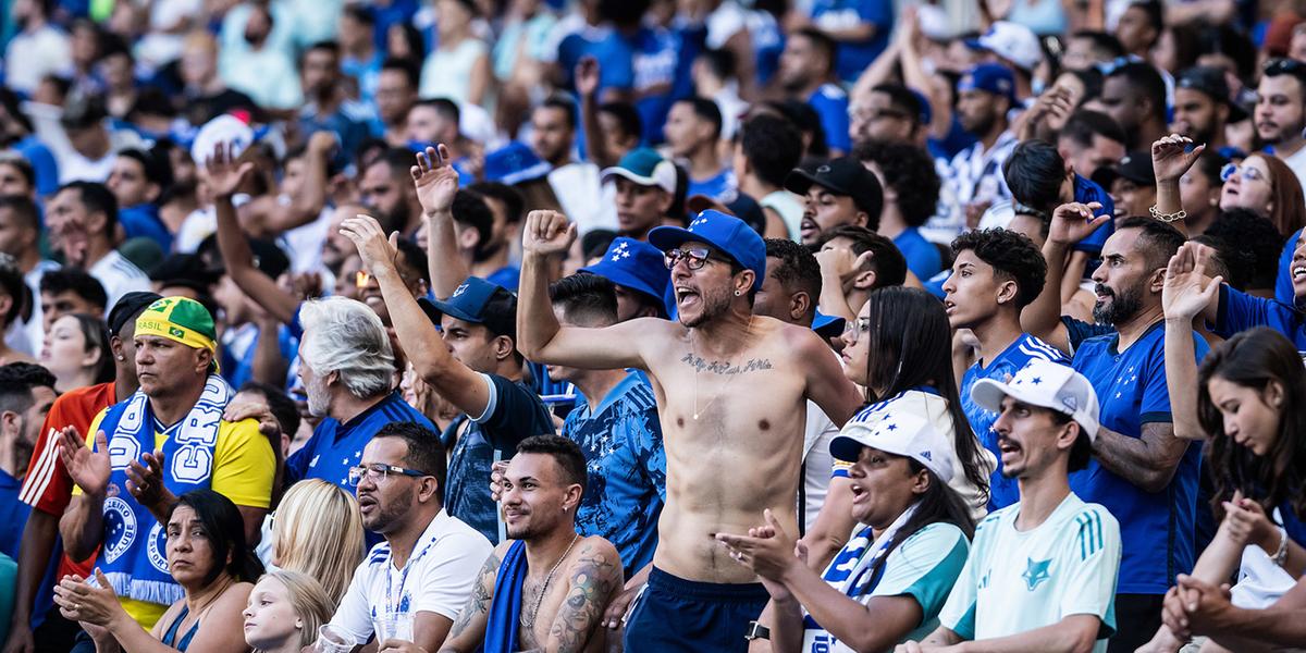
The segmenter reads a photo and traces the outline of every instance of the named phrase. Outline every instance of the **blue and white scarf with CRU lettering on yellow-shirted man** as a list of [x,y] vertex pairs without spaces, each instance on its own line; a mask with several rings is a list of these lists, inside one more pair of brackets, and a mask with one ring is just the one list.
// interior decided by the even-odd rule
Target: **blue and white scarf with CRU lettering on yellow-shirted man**
[[[209,487],[218,426],[232,394],[227,381],[209,375],[200,401],[163,443],[163,485],[174,495]],[[101,421],[112,465],[101,567],[119,597],[171,605],[185,593],[168,573],[166,525],[127,491],[127,465],[154,451],[154,424],[149,397],[141,390],[110,406]]]

